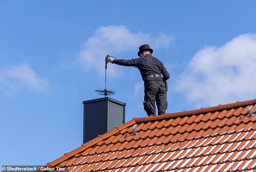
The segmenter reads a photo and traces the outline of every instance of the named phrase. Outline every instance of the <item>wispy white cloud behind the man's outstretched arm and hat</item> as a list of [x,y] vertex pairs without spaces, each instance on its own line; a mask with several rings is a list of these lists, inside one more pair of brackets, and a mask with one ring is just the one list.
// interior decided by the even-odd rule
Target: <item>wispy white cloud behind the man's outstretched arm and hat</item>
[[[142,32],[132,33],[125,26],[99,27],[94,35],[84,42],[79,60],[86,70],[90,70],[90,73],[94,74],[96,72],[104,75],[105,56],[107,54],[115,58],[125,59],[126,52],[134,52],[133,57],[127,58],[137,58],[138,47],[142,44],[149,44],[154,49],[166,48],[172,39],[173,36],[164,33],[160,33],[157,37]],[[120,66],[108,65],[107,70],[109,77],[120,75]]]

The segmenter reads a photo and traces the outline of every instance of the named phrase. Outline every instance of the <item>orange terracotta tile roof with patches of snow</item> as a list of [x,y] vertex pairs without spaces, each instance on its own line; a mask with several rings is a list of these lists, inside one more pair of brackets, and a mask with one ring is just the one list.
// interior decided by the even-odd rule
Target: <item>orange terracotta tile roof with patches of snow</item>
[[134,117],[47,166],[64,166],[68,172],[252,172],[256,170],[256,115],[249,114],[250,107],[255,114],[256,99]]

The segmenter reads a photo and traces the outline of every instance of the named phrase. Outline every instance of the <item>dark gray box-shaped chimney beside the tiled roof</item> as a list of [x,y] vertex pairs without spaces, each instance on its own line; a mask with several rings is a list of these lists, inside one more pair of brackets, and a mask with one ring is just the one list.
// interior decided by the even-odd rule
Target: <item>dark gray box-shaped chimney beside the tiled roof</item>
[[110,97],[87,100],[84,104],[83,143],[111,131],[125,122],[126,104]]

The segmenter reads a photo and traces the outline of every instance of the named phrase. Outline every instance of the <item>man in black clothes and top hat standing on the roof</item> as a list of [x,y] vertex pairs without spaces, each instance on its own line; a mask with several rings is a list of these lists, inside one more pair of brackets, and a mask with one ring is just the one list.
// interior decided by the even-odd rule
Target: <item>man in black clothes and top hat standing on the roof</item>
[[[114,59],[106,56],[105,62],[110,62],[122,66],[134,66],[141,72],[144,81],[144,110],[148,116],[155,116],[155,103],[157,105],[158,115],[166,114],[167,99],[164,82],[170,78],[170,75],[164,64],[151,54],[153,50],[148,44],[139,47],[138,56],[131,60]],[[161,74],[163,76],[161,76]]]

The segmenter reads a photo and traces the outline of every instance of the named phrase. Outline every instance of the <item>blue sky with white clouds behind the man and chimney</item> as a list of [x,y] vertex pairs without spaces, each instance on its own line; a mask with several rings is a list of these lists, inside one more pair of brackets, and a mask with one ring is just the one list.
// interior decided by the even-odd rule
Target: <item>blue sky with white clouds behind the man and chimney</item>
[[[168,69],[168,109],[256,98],[256,2],[0,1],[0,165],[45,165],[82,144],[105,56],[149,44]],[[145,117],[136,68],[108,64],[126,122]]]

